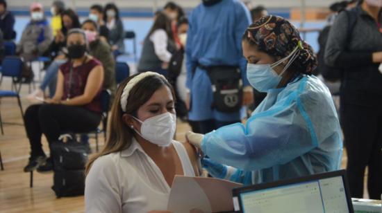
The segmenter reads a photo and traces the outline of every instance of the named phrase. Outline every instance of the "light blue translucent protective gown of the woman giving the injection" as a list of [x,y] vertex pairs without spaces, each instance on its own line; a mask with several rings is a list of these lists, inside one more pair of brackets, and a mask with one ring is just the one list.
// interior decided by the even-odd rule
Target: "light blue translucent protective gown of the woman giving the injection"
[[301,76],[269,90],[246,125],[207,133],[201,149],[213,176],[265,183],[339,169],[342,132],[329,90],[317,77]]

